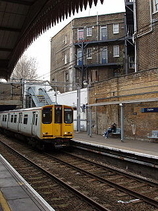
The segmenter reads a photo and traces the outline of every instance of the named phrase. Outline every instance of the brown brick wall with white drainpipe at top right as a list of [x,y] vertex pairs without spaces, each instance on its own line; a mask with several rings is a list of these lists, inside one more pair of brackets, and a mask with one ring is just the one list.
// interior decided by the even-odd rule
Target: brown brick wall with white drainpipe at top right
[[158,68],[158,12],[152,1],[137,1],[137,66],[138,70]]

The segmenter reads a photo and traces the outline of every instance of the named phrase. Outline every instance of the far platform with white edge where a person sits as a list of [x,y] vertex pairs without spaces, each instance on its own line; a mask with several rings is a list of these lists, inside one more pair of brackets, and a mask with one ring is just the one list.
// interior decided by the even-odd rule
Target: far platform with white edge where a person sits
[[125,139],[123,142],[119,137],[105,139],[102,135],[92,134],[90,137],[86,132],[75,132],[74,141],[89,143],[95,146],[103,146],[114,150],[122,150],[133,154],[141,154],[158,159],[158,142],[142,141],[136,139]]

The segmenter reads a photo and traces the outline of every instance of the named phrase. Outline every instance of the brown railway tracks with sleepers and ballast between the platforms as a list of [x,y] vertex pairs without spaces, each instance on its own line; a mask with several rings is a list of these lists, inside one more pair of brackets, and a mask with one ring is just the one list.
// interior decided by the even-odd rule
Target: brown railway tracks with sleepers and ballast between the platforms
[[[13,145],[12,142],[8,144]],[[19,164],[18,159],[14,168],[56,210],[154,211],[158,208],[158,185],[155,183],[73,154],[41,154],[28,149],[28,146],[19,146],[18,143],[14,143],[14,149],[20,150],[20,157],[27,158],[27,161],[21,161],[22,164]],[[38,167],[35,168],[35,165]],[[45,173],[41,175],[39,171]],[[57,200],[59,204],[53,200],[54,197],[57,199],[57,189],[60,190]]]

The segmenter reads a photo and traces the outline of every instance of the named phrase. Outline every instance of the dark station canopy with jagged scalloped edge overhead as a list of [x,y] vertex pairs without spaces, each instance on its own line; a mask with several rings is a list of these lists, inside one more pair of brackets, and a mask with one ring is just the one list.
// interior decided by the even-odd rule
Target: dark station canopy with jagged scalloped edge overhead
[[0,0],[0,78],[8,80],[24,50],[79,9],[104,0]]

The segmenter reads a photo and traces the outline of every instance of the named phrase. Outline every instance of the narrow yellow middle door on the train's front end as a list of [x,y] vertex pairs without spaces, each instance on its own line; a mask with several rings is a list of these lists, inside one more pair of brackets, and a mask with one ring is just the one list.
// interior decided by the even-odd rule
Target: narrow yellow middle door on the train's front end
[[54,112],[54,133],[55,136],[62,136],[62,106],[56,105]]

